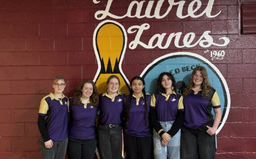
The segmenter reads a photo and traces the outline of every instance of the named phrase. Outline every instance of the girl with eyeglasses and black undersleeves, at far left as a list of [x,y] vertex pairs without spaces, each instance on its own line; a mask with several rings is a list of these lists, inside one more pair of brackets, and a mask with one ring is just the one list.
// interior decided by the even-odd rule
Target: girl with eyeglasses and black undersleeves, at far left
[[40,103],[38,127],[41,133],[43,159],[64,159],[68,143],[68,98],[63,95],[66,80],[62,76],[53,79],[53,93]]

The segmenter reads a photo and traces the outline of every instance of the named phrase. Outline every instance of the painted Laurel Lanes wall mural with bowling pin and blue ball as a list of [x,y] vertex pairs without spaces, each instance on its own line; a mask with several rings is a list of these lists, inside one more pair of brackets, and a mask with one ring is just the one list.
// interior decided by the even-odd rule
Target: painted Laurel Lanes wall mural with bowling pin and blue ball
[[[93,0],[94,4],[98,4],[99,2],[99,0]],[[117,1],[115,2],[117,3]],[[147,2],[133,0],[130,2],[127,8],[127,13],[120,16],[110,12],[111,4],[114,2],[113,0],[108,0],[106,2],[106,9],[98,10],[94,14],[97,20],[104,20],[106,17],[116,19],[116,21],[102,21],[96,27],[93,34],[93,47],[99,66],[94,77],[94,82],[96,82],[100,92],[106,91],[106,79],[110,76],[110,74],[115,74],[121,80],[120,91],[128,94],[129,82],[122,71],[122,61],[124,59],[126,49],[132,50],[138,46],[144,47],[146,49],[167,49],[171,43],[173,43],[177,48],[191,48],[199,45],[200,47],[206,48],[204,53],[205,55],[210,56],[211,60],[224,59],[224,50],[209,51],[207,48],[211,46],[225,47],[228,45],[228,43],[230,43],[230,40],[227,37],[221,37],[218,40],[214,40],[210,35],[211,31],[209,30],[205,30],[201,36],[196,36],[193,32],[187,34],[182,34],[182,32],[171,34],[159,33],[154,34],[147,43],[143,43],[140,38],[143,36],[143,32],[150,28],[150,24],[138,22],[138,25],[131,26],[125,30],[124,26],[118,22],[118,19],[122,19],[124,17],[138,19],[154,17],[161,19],[170,13],[173,6],[177,7],[176,16],[180,19],[186,17],[197,18],[203,15],[208,18],[213,18],[221,13],[221,11],[219,11],[215,15],[212,15],[214,0],[209,0],[205,9],[201,9],[200,12],[199,9],[202,6],[202,2],[200,0],[193,0],[189,3],[189,5],[186,6],[184,5],[186,3],[184,0],[177,2],[174,2],[174,0],[168,0],[168,9],[165,11],[165,13],[161,12],[162,14],[160,15],[163,2],[164,0],[149,0]],[[154,3],[157,3],[156,7],[152,7]],[[146,7],[146,12],[141,12],[142,7]],[[187,13],[182,12],[185,7],[187,7]],[[154,12],[152,11],[153,9]],[[132,10],[136,10],[136,12],[133,13]],[[154,14],[152,15],[152,13]],[[130,35],[129,38],[133,38],[128,44],[127,33]],[[148,64],[140,76],[145,78],[146,92],[152,94],[155,90],[156,78],[159,76],[159,73],[172,73],[176,79],[177,87],[180,88],[182,85],[188,83],[190,74],[198,65],[202,65],[207,69],[210,82],[212,86],[217,90],[220,97],[222,118],[221,124],[216,131],[217,134],[225,124],[225,120],[227,119],[229,113],[230,93],[225,78],[219,69],[217,69],[216,66],[209,60],[193,52],[170,52],[167,55],[161,56],[155,59],[152,63]]]

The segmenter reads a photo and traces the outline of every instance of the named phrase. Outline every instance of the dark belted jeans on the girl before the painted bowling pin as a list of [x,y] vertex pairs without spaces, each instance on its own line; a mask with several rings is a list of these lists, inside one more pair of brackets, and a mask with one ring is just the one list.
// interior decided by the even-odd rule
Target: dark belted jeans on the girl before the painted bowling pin
[[98,149],[101,159],[122,158],[122,126],[110,128],[98,125]]

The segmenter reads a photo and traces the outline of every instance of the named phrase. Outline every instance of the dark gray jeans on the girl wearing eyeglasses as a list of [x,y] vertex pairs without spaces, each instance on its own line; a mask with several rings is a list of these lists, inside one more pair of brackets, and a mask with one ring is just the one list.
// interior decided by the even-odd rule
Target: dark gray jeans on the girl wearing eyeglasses
[[53,142],[53,147],[48,149],[44,146],[44,139],[41,137],[42,159],[65,159],[68,138],[61,142]]

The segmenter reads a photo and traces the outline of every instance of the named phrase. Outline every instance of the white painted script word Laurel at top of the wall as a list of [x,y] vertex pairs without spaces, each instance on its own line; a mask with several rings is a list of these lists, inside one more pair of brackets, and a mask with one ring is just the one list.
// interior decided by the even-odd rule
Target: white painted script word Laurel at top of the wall
[[[100,1],[93,0],[94,4],[97,4],[99,2]],[[163,13],[163,15],[160,15],[160,11],[161,11],[161,9],[163,9],[162,5],[163,5],[164,0],[158,0],[158,2],[156,4],[156,7],[154,7],[154,8],[153,8],[153,4],[155,2],[154,0],[149,0],[147,2],[147,4],[146,4],[145,0],[142,0],[140,2],[138,2],[136,0],[133,0],[129,4],[126,14],[120,16],[120,15],[115,15],[115,14],[110,13],[110,7],[111,7],[112,2],[113,2],[113,0],[108,0],[107,4],[106,4],[106,9],[97,11],[94,14],[94,17],[97,20],[102,20],[102,19],[105,19],[106,17],[111,17],[111,18],[114,18],[114,19],[122,19],[124,17],[130,17],[130,18],[137,17],[139,19],[144,18],[144,17],[147,17],[147,18],[153,18],[154,17],[156,19],[161,19],[161,18],[166,17],[170,13],[173,6],[178,6],[176,16],[181,18],[181,19],[184,19],[186,17],[197,18],[197,17],[203,16],[204,14],[206,15],[206,17],[216,17],[217,15],[219,15],[221,13],[221,11],[220,11],[219,13],[217,13],[215,15],[211,14],[212,5],[214,3],[214,0],[209,0],[206,8],[202,11],[202,13],[199,13],[198,15],[195,15],[195,13],[197,13],[199,11],[199,9],[201,8],[201,6],[202,6],[201,0],[191,1],[190,4],[188,5],[188,9],[187,9],[188,12],[187,12],[186,15],[182,15],[185,0],[180,0],[178,2],[174,2],[174,0],[168,0],[169,6],[168,6],[168,9],[166,10],[166,12]],[[143,7],[146,7],[145,13],[141,12]],[[134,15],[132,15],[132,10],[133,9],[136,10],[136,13]],[[152,9],[154,9],[154,14],[150,15]]]

